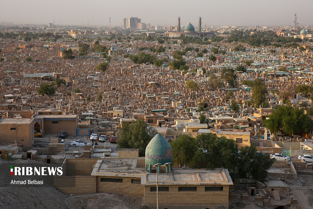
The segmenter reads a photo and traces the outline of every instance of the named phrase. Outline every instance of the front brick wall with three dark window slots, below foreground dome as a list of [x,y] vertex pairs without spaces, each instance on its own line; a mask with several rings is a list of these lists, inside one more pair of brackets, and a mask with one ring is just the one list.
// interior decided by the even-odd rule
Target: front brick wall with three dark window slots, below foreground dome
[[[153,185],[155,186],[155,185]],[[162,185],[161,185],[162,186]],[[164,185],[165,186],[165,185]],[[197,191],[178,191],[179,186],[197,186]],[[205,191],[205,186],[212,185],[168,185],[169,191],[159,192],[159,204],[227,204],[228,205],[228,186],[224,186],[223,191]],[[223,186],[223,185],[220,185]],[[155,204],[156,192],[150,191],[149,185],[145,186],[146,205]]]

